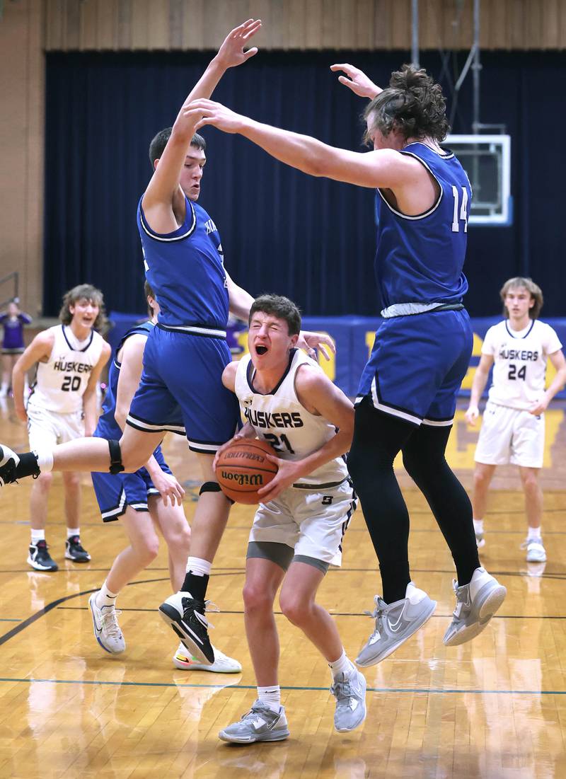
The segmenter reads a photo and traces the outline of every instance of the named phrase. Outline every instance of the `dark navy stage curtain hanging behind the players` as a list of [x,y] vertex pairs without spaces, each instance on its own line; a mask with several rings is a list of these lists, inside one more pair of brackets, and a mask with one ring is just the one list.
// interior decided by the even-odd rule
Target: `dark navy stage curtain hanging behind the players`
[[[48,53],[45,144],[44,312],[89,281],[108,308],[139,310],[142,256],[135,209],[149,180],[149,140],[171,125],[210,54]],[[260,52],[230,70],[213,97],[237,111],[361,150],[365,101],[339,85],[332,62],[352,62],[385,86],[403,52]],[[464,55],[462,54],[462,62]],[[482,122],[512,135],[512,227],[470,227],[466,304],[493,314],[509,276],[543,287],[545,315],[564,312],[566,220],[561,121],[562,55],[483,54]],[[422,63],[437,77],[441,61]],[[454,132],[468,132],[471,80]],[[239,136],[207,128],[199,202],[219,227],[227,270],[251,294],[287,294],[311,315],[374,315],[373,192],[312,178],[272,160]]]

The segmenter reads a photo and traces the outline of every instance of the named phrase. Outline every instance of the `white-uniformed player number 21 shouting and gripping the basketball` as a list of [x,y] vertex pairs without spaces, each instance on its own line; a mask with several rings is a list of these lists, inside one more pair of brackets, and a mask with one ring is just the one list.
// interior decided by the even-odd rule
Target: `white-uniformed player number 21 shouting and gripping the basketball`
[[[261,502],[248,541],[244,584],[244,619],[258,700],[240,721],[220,731],[223,741],[238,744],[289,736],[273,616],[279,586],[281,611],[330,666],[336,730],[352,731],[366,715],[364,676],[346,656],[329,612],[315,602],[329,566],[341,563],[343,535],[356,508],[343,457],[352,441],[353,406],[316,362],[297,349],[300,330],[301,315],[288,298],[257,298],[249,317],[250,353],[227,365],[222,377],[224,386],[236,393],[246,423],[216,454],[220,485],[227,484],[230,497],[239,499],[234,481],[223,478],[221,464],[230,463],[227,452],[245,451],[241,444],[256,437],[272,445],[276,454],[265,457],[277,466],[276,475],[257,492]],[[253,447],[249,450],[254,452]],[[249,459],[250,475],[254,463],[258,473],[265,467],[263,455],[258,448]]]

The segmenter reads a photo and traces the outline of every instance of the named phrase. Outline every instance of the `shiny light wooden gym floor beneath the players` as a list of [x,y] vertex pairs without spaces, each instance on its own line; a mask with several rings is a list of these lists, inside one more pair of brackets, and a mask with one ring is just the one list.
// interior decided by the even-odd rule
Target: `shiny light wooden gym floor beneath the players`
[[[0,409],[0,440],[26,449],[11,401]],[[462,412],[449,460],[471,484],[477,433]],[[244,636],[241,587],[251,522],[235,506],[213,569],[213,641],[244,671],[178,671],[177,642],[156,614],[169,594],[163,550],[119,599],[125,654],[105,654],[93,638],[87,599],[124,545],[118,523],[103,526],[85,478],[81,522],[92,555],[86,566],[63,559],[65,522],[60,477],[49,504],[47,541],[61,568],[26,565],[29,483],[2,490],[0,526],[0,777],[550,777],[566,776],[566,421],[547,414],[543,538],[548,562],[529,564],[519,479],[501,470],[487,516],[482,558],[508,587],[491,626],[448,649],[442,636],[454,606],[454,569],[422,496],[399,474],[411,509],[413,579],[438,601],[434,617],[392,657],[367,668],[367,719],[350,735],[333,730],[330,677],[307,640],[277,617],[280,682],[291,737],[238,747],[217,738],[255,699]],[[190,520],[198,492],[195,462],[181,439],[167,459],[187,486]],[[346,535],[343,568],[332,570],[320,601],[336,615],[351,657],[371,632],[364,609],[379,591],[373,548],[360,511]]]

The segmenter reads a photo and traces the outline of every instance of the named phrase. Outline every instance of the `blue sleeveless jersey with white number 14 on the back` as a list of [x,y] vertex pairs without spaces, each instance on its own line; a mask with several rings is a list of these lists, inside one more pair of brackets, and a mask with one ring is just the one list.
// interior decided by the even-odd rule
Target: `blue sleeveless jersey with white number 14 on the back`
[[460,301],[468,289],[462,267],[472,200],[469,179],[453,153],[441,154],[419,142],[401,153],[424,164],[440,194],[426,213],[409,217],[377,190],[375,276],[381,301],[385,308],[395,303]]

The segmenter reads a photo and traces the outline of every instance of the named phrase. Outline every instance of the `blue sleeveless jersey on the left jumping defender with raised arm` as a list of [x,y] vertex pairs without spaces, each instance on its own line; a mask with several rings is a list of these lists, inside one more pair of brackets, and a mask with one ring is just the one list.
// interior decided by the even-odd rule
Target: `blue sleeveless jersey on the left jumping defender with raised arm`
[[206,211],[185,197],[185,221],[166,235],[154,232],[139,200],[137,222],[146,279],[160,305],[160,324],[223,330],[228,290],[220,235]]

